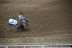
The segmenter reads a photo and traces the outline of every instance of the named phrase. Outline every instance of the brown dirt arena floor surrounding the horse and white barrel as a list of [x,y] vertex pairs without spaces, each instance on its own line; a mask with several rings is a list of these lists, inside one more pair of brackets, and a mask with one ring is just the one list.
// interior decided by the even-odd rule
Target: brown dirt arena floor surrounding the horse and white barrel
[[[29,19],[29,31],[16,32],[20,12],[23,12],[23,16]],[[10,18],[18,20],[18,24],[9,25]],[[8,41],[4,38],[17,38],[17,40],[21,38],[20,40],[25,42],[26,37],[29,37],[26,40],[36,41],[32,43],[53,43],[55,41],[71,44],[72,0],[0,0],[0,42]],[[35,40],[37,38],[38,40]]]

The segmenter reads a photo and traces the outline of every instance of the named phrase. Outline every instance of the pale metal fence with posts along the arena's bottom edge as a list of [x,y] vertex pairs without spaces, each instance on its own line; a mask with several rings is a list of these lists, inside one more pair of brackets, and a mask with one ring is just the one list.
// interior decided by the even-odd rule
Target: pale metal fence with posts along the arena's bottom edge
[[22,47],[22,48],[72,48],[72,45],[0,45],[0,48],[9,47]]

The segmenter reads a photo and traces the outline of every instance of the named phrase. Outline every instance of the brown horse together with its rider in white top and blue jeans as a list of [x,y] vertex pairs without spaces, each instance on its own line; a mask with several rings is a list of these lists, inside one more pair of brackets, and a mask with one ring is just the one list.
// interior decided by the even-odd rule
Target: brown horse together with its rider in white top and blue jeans
[[26,23],[28,22],[28,19],[22,16],[22,12],[20,12],[18,17],[20,20],[20,26],[18,27],[18,29],[22,28],[23,30],[27,31]]

